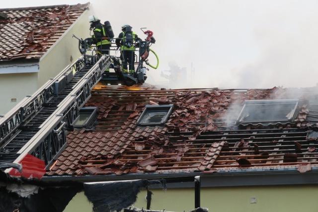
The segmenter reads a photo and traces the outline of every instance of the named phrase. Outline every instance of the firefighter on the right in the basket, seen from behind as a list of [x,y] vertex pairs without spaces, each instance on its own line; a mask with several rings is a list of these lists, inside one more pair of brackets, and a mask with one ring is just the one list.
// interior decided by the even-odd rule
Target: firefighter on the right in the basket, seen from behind
[[119,34],[118,38],[116,39],[116,45],[121,50],[121,60],[122,60],[122,67],[123,72],[128,72],[129,65],[129,72],[135,72],[135,45],[138,45],[140,38],[138,38],[137,34],[132,31],[132,27],[128,24],[125,24],[121,27],[122,32]]

